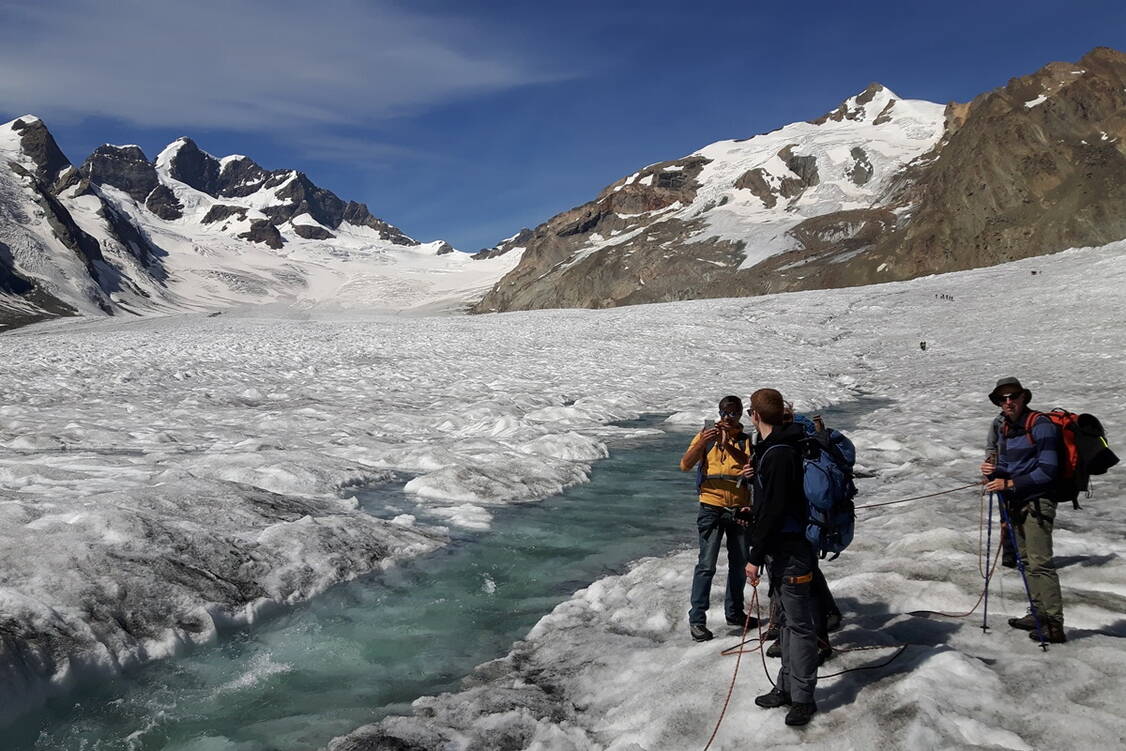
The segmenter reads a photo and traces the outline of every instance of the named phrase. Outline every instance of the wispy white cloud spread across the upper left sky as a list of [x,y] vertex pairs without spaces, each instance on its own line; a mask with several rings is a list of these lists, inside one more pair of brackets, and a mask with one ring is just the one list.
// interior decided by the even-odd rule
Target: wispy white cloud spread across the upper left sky
[[279,131],[359,126],[560,78],[491,36],[386,0],[16,0],[0,8],[0,105]]

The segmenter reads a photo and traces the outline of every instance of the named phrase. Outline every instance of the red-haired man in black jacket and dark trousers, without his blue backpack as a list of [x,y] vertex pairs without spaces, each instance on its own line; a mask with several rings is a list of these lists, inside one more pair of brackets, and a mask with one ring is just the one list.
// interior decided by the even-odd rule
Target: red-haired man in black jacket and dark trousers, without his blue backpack
[[787,725],[805,725],[817,710],[817,634],[812,582],[816,558],[805,539],[808,519],[799,441],[805,431],[785,422],[785,402],[774,388],[751,394],[751,423],[761,440],[744,476],[754,482],[747,575],[758,585],[763,565],[780,591],[781,668],[775,688],[756,697],[763,708],[789,706]]

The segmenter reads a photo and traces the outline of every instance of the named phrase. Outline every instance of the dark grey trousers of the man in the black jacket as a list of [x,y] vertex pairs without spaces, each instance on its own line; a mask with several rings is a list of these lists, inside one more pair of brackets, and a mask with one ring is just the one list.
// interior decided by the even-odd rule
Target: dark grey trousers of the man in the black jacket
[[817,683],[816,557],[805,539],[780,542],[767,562],[781,606],[781,668],[775,681],[795,703],[813,701]]

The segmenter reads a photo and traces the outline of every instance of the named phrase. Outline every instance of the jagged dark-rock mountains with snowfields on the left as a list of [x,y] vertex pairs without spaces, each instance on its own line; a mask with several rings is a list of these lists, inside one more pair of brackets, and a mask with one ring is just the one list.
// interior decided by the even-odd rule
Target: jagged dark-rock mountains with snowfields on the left
[[464,306],[516,262],[420,243],[295,170],[179,138],[75,168],[34,116],[0,125],[0,324],[286,301]]

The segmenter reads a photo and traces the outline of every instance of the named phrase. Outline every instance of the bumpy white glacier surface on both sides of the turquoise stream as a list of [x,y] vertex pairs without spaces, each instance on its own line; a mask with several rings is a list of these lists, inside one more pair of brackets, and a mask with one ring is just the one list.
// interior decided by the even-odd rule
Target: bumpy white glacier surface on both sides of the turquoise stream
[[[999,297],[1019,325],[983,324]],[[406,493],[420,508],[480,528],[499,506],[583,482],[616,433],[608,422],[668,412],[670,429],[690,428],[717,395],[763,385],[799,409],[886,400],[852,435],[875,475],[861,481],[865,502],[973,477],[993,412],[984,394],[1000,375],[1019,375],[1039,405],[1093,411],[1120,436],[1124,307],[1119,242],[876,287],[611,311],[193,314],[3,334],[0,708],[218,638],[216,624],[445,543],[441,530],[383,522],[348,500],[349,486],[388,472],[417,475]],[[720,330],[733,334],[716,347]],[[891,670],[825,681],[806,737],[1065,746],[1076,728],[1024,721],[1049,709],[1089,717],[1083,742],[1120,737],[1126,663],[1100,632],[1120,631],[1124,476],[1112,471],[1089,511],[1061,521],[1057,553],[1080,562],[1063,572],[1073,632],[1047,655],[1022,634],[984,638],[973,623],[903,615],[976,598],[975,494],[861,518],[829,569],[846,610],[840,643],[929,646]],[[488,746],[494,731],[524,739],[512,748],[703,746],[731,663],[687,641],[690,557],[577,593],[511,661],[482,672],[484,688],[428,699],[419,719],[341,748],[378,748],[365,739],[381,734]],[[1020,611],[1011,576],[994,597],[994,613]],[[720,748],[748,733],[796,742],[777,714],[749,706],[766,679],[744,671]],[[1069,676],[1064,690],[1029,690],[1053,671]],[[938,701],[935,687],[951,677],[965,691]],[[1024,714],[1001,716],[1002,706]]]

